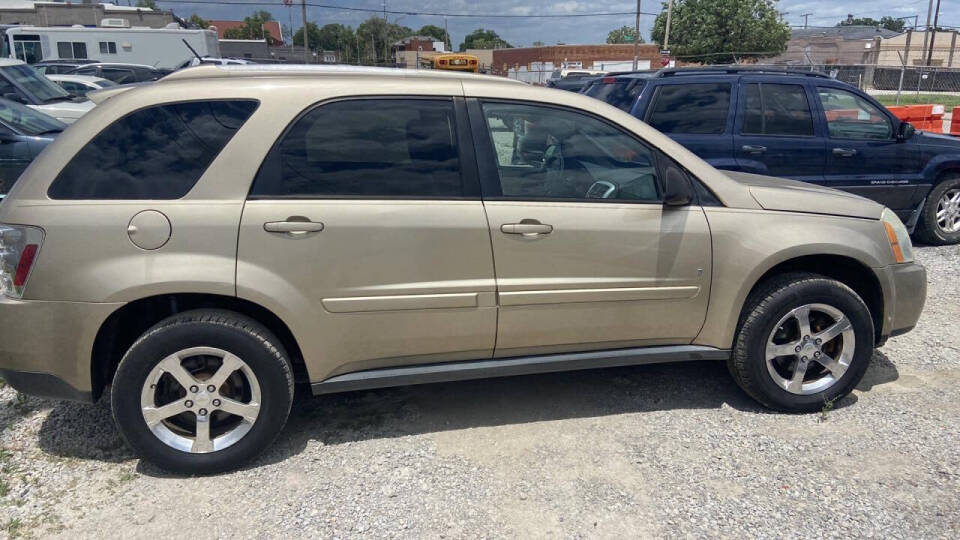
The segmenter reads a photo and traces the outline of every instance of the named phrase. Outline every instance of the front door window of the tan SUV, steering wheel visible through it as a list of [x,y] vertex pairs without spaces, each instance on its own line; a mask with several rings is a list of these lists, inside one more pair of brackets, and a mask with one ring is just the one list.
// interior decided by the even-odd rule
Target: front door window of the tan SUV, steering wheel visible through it
[[592,116],[484,103],[503,198],[660,202],[653,151]]

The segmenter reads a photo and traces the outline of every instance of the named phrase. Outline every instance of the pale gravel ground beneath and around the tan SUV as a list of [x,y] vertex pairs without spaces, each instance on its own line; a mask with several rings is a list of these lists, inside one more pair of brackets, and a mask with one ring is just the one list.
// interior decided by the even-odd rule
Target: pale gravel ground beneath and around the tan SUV
[[250,467],[170,476],[106,405],[0,389],[0,535],[960,537],[960,247],[858,390],[771,414],[721,363],[298,397]]

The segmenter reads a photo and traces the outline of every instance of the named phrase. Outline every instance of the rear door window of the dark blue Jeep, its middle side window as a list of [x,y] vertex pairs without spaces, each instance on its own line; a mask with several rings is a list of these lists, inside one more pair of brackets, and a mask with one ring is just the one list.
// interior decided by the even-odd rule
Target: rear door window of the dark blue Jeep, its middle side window
[[813,115],[803,86],[748,84],[743,133],[812,137]]

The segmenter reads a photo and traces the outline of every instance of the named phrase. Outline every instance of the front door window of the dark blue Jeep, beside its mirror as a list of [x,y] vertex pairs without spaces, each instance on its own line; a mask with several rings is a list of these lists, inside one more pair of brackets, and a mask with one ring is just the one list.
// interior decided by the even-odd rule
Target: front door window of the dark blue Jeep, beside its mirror
[[887,115],[860,96],[839,88],[817,88],[833,139],[887,140],[893,126]]

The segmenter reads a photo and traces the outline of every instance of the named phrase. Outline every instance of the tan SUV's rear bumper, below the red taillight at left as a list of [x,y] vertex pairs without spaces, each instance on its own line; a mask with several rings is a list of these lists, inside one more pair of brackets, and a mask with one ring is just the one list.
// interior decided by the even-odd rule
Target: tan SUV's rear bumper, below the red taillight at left
[[0,376],[27,394],[90,401],[93,343],[122,305],[0,296]]

